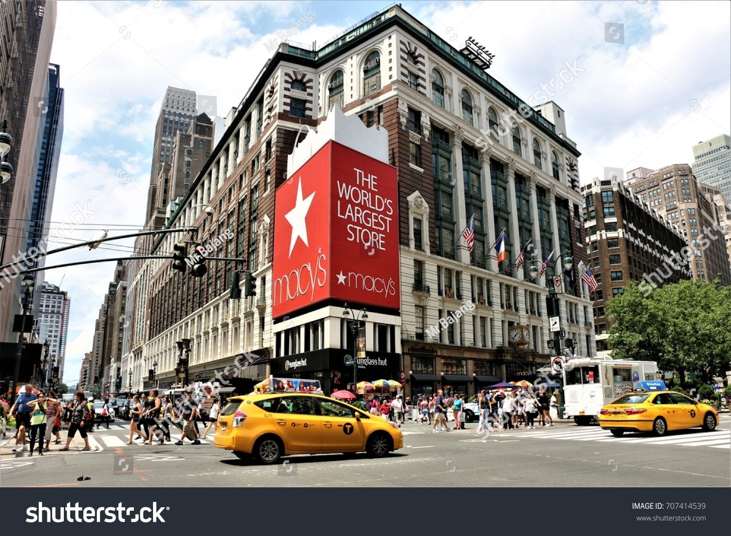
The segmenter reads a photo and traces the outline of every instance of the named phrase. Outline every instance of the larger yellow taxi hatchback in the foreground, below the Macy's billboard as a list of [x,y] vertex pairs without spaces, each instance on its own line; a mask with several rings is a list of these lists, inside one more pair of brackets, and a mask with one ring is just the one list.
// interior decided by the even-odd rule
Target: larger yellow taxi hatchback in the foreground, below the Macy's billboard
[[404,447],[395,424],[330,397],[270,393],[228,402],[213,444],[240,459],[275,464],[289,454],[362,451],[380,457]]

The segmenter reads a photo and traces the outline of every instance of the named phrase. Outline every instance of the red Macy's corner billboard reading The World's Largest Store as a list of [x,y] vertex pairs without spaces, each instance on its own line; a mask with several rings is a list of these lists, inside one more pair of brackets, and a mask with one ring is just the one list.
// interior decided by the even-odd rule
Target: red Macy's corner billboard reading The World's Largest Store
[[272,315],[325,299],[398,310],[396,170],[327,142],[276,191]]

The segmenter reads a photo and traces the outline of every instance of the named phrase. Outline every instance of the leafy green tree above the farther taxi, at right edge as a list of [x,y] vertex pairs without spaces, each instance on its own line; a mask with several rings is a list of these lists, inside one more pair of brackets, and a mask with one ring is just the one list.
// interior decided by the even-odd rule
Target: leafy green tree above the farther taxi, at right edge
[[728,318],[731,288],[686,280],[651,290],[630,282],[607,303],[612,318],[607,342],[615,359],[657,361],[660,370],[675,370],[689,388],[686,372],[711,383],[731,355]]

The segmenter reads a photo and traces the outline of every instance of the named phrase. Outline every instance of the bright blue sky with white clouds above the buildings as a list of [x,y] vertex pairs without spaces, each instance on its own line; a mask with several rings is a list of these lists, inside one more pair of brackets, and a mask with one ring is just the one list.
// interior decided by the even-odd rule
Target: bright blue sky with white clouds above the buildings
[[[53,221],[75,204],[96,214],[69,239],[96,229],[143,224],[155,120],[168,85],[215,96],[225,116],[270,57],[265,43],[300,17],[292,41],[324,45],[387,7],[381,2],[63,1],[51,61],[65,88]],[[730,5],[727,2],[428,2],[402,6],[455,47],[474,37],[495,54],[490,74],[523,99],[557,78],[566,63],[583,70],[553,100],[583,156],[583,183],[605,166],[692,164],[692,144],[730,131]],[[605,23],[624,25],[624,43],[605,40]],[[83,28],[83,31],[80,31]],[[580,59],[577,59],[580,58]],[[91,201],[89,201],[91,200]],[[76,250],[61,264],[125,255]],[[45,272],[72,297],[64,379],[78,377],[91,351],[94,320],[113,264]]]

